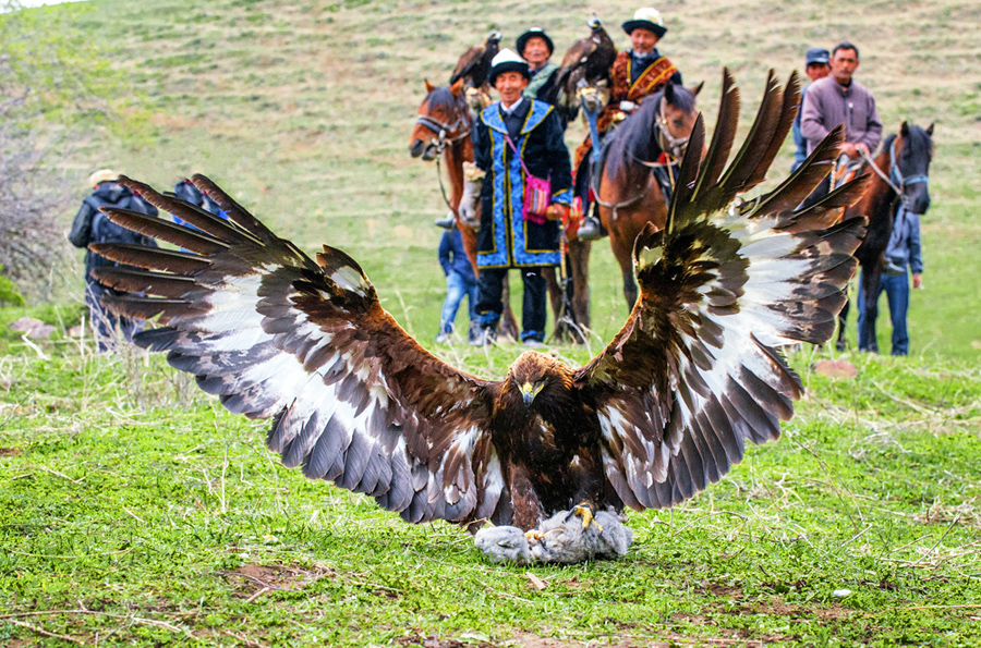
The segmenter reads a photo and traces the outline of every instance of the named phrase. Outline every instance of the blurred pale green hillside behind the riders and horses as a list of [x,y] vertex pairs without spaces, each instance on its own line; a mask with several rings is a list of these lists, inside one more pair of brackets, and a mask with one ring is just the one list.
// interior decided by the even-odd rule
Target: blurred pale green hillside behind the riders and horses
[[[593,12],[622,47],[618,25],[633,11],[622,0],[88,4],[45,11],[72,12],[75,25],[111,49],[145,96],[157,137],[135,149],[93,142],[68,160],[80,179],[106,164],[161,186],[205,172],[304,248],[329,243],[352,254],[396,317],[426,340],[444,291],[439,233],[429,223],[445,209],[434,166],[408,155],[423,78],[445,82],[459,53],[492,28],[510,41],[540,24],[564,51],[584,35]],[[748,123],[767,69],[784,76],[800,66],[807,47],[846,38],[861,48],[858,76],[876,94],[887,130],[903,120],[936,123],[933,207],[923,219],[927,290],[912,298],[912,352],[981,358],[981,323],[972,317],[981,274],[965,271],[981,246],[973,218],[981,191],[973,3],[872,2],[860,12],[840,2],[821,12],[776,1],[659,7],[670,27],[662,49],[689,84],[706,82],[710,124],[722,65],[743,88]],[[570,129],[570,145],[583,133],[580,124]],[[785,147],[777,179],[789,160]],[[597,332],[608,339],[626,307],[605,242],[593,259]],[[880,328],[885,341],[887,322]]]

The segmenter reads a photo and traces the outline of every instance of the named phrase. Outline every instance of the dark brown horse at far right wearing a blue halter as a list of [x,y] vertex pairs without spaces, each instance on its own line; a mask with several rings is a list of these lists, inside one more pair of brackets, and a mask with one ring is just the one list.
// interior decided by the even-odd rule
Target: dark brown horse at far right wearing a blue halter
[[[929,173],[933,159],[933,124],[927,129],[903,122],[898,135],[889,135],[882,150],[872,160],[874,175],[864,195],[845,210],[845,219],[864,216],[869,219],[865,237],[855,256],[861,266],[864,297],[863,330],[859,331],[859,349],[879,352],[875,341],[875,319],[879,316],[879,286],[883,254],[893,233],[897,209],[905,206],[912,213],[922,215],[930,208]],[[844,351],[848,304],[838,316],[836,347]]]

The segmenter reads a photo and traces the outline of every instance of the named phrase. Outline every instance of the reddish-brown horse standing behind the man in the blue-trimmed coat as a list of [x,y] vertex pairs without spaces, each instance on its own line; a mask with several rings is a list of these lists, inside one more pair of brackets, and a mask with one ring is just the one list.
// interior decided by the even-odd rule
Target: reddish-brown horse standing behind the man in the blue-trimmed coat
[[[439,175],[440,191],[448,207],[457,217],[457,229],[463,235],[463,248],[467,258],[473,266],[474,273],[480,274],[476,265],[476,235],[474,231],[460,218],[459,208],[463,199],[464,174],[463,162],[473,162],[473,140],[470,134],[473,131],[474,115],[467,102],[463,93],[463,80],[457,81],[450,86],[433,86],[426,83],[426,97],[419,107],[419,118],[412,129],[409,143],[409,154],[413,158],[422,158],[425,161],[438,160],[443,155],[449,176],[450,193],[447,196],[443,185],[443,175]],[[438,163],[438,162],[437,162]],[[439,170],[437,169],[437,173]],[[469,199],[469,197],[468,197]],[[475,200],[475,210],[480,217],[480,200]],[[543,271],[548,286],[548,297],[555,319],[562,317],[562,295],[555,276],[555,268],[545,268]],[[504,302],[505,310],[501,314],[500,334],[509,338],[518,338],[518,322],[508,303],[509,290],[505,278]]]

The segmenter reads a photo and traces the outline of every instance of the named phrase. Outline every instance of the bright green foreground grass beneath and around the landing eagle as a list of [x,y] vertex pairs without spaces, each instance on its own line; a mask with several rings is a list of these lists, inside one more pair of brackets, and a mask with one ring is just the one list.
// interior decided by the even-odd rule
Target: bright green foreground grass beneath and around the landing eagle
[[981,643],[978,369],[800,354],[784,437],[631,514],[627,557],[517,567],[283,468],[160,357],[90,351],[0,362],[4,646]]

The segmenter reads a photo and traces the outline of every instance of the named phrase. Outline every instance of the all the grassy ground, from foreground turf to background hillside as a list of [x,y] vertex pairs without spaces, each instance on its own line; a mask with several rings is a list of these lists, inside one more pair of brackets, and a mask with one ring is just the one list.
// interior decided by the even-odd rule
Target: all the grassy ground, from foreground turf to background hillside
[[[625,559],[528,568],[488,564],[452,525],[409,526],[282,468],[263,425],[227,414],[160,357],[93,355],[63,332],[81,318],[76,298],[0,309],[0,645],[981,645],[977,8],[658,7],[671,29],[663,51],[688,84],[706,82],[710,124],[722,65],[743,89],[744,131],[767,69],[786,76],[807,47],[844,38],[861,47],[858,77],[888,131],[935,122],[913,357],[849,353],[858,377],[833,380],[809,369],[829,352],[794,355],[808,395],[779,441],[682,506],[632,514]],[[492,28],[512,40],[538,24],[561,51],[593,11],[614,33],[633,9],[96,0],[37,11],[105,47],[126,71],[131,109],[150,114],[149,135],[97,129],[65,151],[78,201],[104,166],[161,188],[204,172],[302,248],[351,254],[424,345],[500,377],[519,346],[432,343],[445,286],[429,223],[445,209],[434,166],[408,155],[423,78],[444,82]],[[572,126],[570,145],[582,134]],[[771,182],[789,161],[785,147]],[[52,216],[66,229],[76,208]],[[81,293],[80,260],[56,269],[69,292]],[[585,362],[622,325],[618,276],[601,242],[596,337],[556,347],[560,357]],[[52,340],[8,330],[25,314],[57,325]],[[884,349],[887,338],[882,322]]]

